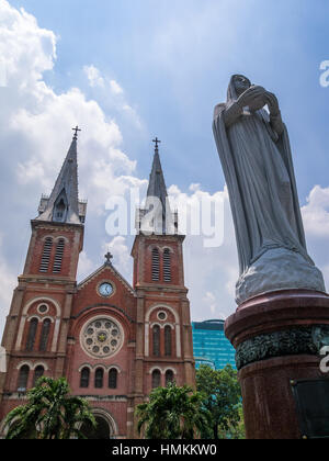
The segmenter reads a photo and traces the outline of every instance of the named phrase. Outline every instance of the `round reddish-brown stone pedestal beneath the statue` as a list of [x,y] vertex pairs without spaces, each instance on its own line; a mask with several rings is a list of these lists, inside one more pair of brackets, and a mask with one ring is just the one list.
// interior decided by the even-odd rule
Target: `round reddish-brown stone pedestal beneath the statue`
[[225,333],[237,351],[247,438],[303,438],[292,385],[326,378],[319,351],[329,345],[329,296],[290,290],[254,297]]

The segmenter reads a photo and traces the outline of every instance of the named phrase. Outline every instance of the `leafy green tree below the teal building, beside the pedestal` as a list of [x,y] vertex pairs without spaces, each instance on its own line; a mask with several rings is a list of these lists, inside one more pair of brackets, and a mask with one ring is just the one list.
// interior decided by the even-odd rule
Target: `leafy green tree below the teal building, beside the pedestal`
[[204,428],[202,438],[245,438],[241,390],[232,367],[213,370],[201,366],[196,371],[196,387],[212,415],[212,427]]

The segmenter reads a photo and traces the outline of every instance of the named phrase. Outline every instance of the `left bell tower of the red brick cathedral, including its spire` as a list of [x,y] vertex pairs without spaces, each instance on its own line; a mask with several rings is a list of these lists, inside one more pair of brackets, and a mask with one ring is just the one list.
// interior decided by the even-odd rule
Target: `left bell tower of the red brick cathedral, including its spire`
[[[7,355],[7,375],[0,389],[4,414],[9,407],[20,404],[16,400],[24,397],[41,375],[65,375],[87,210],[87,203],[78,198],[78,131],[75,128],[50,195],[42,196],[38,216],[31,221],[24,271],[13,293],[2,340]],[[5,395],[11,395],[8,405]]]

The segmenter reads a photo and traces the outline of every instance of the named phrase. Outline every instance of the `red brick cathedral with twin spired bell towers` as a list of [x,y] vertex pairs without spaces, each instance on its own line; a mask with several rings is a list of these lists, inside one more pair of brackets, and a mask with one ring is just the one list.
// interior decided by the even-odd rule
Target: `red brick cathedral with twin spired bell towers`
[[[147,201],[164,205],[158,142]],[[87,204],[78,198],[77,132],[50,196],[42,196],[24,272],[19,277],[2,347],[0,434],[5,415],[26,402],[42,376],[66,376],[98,421],[89,438],[138,438],[135,407],[170,381],[194,386],[190,303],[177,214],[158,206],[152,231],[138,225],[133,286],[112,255],[77,283]],[[157,209],[157,210],[158,210]],[[147,210],[147,206],[146,206]],[[147,214],[139,210],[138,217]],[[137,220],[138,222],[138,220]],[[171,223],[171,232],[167,224]]]

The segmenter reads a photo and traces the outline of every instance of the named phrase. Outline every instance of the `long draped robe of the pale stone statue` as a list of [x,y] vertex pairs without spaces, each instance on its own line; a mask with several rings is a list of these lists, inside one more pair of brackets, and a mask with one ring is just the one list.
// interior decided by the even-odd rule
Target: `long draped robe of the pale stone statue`
[[280,136],[265,110],[243,111],[226,128],[224,113],[237,99],[232,80],[227,103],[218,104],[214,135],[229,192],[240,276],[265,251],[286,248],[307,255],[288,134]]

